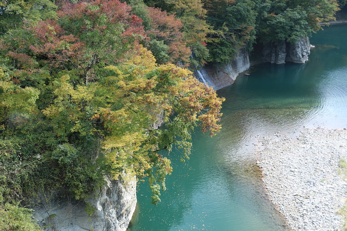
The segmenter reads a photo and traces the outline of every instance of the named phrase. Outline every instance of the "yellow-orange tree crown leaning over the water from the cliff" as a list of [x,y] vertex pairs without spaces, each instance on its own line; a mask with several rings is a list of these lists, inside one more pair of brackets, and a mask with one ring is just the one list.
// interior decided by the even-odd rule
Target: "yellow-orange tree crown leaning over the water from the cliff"
[[[211,135],[221,129],[217,123],[223,99],[189,70],[173,64],[157,66],[153,55],[143,47],[128,62],[106,69],[113,73],[96,86],[94,98],[88,92],[90,86],[78,89],[78,95],[72,94],[72,98],[92,102],[95,98],[107,99],[92,120],[104,126],[107,137],[103,148],[115,177],[123,171],[143,177],[150,168],[170,174],[170,160],[157,153],[160,148],[171,148],[172,143],[168,146],[166,142],[181,136],[183,140],[176,144],[188,149],[189,142],[184,139],[189,139],[188,128],[197,122],[201,122],[203,132],[209,130]],[[178,123],[179,135],[170,138],[171,132],[166,131],[167,135],[161,137],[162,133],[154,132],[152,125],[160,117],[167,123]]]

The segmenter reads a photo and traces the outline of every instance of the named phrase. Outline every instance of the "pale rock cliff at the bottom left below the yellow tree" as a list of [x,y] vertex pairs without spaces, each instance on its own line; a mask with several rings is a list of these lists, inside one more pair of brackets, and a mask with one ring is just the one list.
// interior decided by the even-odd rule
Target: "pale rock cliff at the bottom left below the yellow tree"
[[125,231],[136,207],[136,179],[124,183],[106,178],[106,182],[89,200],[92,216],[85,203],[68,198],[42,201],[34,207],[34,216],[46,231]]

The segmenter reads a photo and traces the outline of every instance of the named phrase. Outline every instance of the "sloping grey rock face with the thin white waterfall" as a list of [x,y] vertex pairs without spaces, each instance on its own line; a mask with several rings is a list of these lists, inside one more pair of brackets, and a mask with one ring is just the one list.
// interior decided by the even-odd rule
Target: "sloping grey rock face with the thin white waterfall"
[[230,62],[208,64],[195,70],[194,74],[200,82],[219,90],[233,84],[238,74],[246,71],[249,67],[248,51],[240,49]]

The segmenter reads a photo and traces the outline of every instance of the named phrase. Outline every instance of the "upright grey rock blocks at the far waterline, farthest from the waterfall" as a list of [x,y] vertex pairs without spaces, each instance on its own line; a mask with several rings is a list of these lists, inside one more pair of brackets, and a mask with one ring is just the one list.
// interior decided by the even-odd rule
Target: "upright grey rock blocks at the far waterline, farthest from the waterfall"
[[264,62],[283,64],[286,62],[305,63],[310,54],[310,41],[307,37],[300,38],[296,43],[280,42],[274,45],[270,42],[263,44]]

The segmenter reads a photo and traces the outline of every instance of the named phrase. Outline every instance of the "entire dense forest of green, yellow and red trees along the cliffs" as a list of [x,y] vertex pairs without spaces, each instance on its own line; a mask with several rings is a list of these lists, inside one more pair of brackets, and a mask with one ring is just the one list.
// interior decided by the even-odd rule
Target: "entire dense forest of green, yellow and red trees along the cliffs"
[[2,1],[0,229],[40,229],[32,198],[83,201],[106,175],[148,179],[158,203],[171,150],[184,161],[196,127],[221,129],[224,99],[189,68],[310,36],[345,3]]

